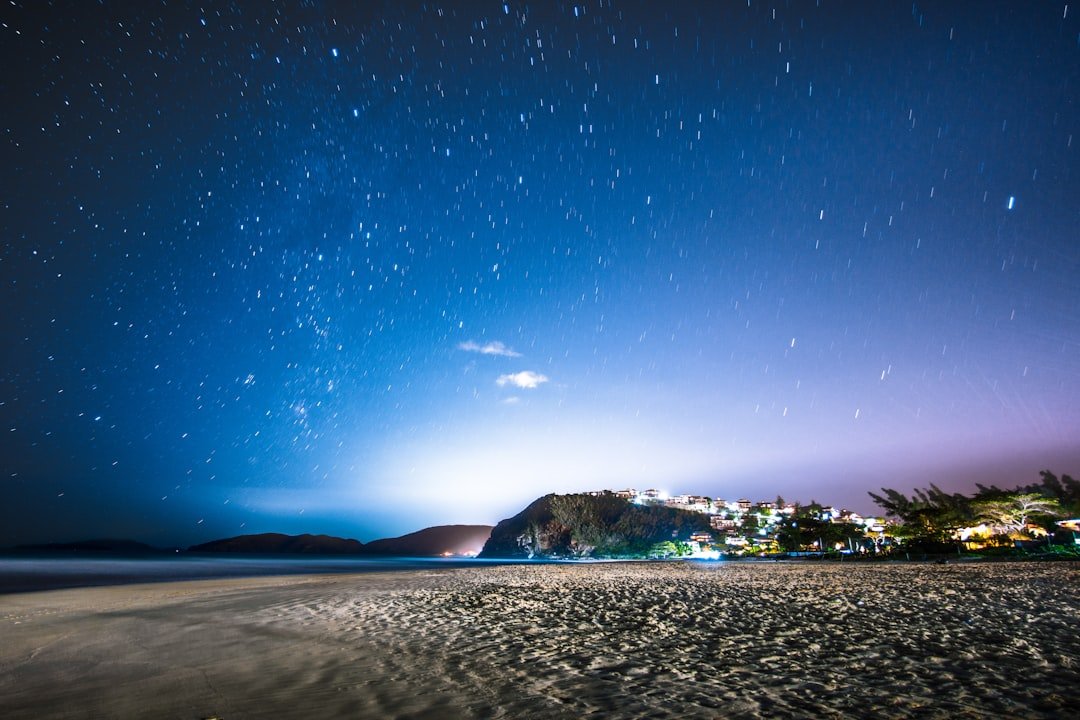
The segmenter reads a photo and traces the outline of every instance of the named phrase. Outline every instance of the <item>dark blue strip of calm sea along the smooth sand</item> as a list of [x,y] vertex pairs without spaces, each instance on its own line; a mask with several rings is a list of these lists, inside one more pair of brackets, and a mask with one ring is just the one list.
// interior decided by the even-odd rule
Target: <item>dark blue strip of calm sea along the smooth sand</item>
[[0,594],[174,580],[388,572],[476,567],[492,563],[507,565],[508,562],[507,560],[467,558],[194,555],[188,553],[140,556],[110,555],[108,553],[0,554]]

